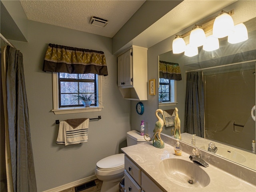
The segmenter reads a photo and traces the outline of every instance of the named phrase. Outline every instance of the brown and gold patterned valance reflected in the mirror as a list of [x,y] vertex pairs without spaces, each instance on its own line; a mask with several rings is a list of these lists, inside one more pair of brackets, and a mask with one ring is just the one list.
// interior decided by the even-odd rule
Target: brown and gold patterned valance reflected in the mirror
[[159,61],[159,78],[181,80],[182,78],[179,64]]

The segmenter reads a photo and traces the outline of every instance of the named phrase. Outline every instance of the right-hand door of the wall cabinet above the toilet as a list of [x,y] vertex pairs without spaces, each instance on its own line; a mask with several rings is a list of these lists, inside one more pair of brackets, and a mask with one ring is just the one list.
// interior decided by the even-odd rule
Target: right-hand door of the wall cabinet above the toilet
[[124,86],[132,85],[132,50],[124,53]]

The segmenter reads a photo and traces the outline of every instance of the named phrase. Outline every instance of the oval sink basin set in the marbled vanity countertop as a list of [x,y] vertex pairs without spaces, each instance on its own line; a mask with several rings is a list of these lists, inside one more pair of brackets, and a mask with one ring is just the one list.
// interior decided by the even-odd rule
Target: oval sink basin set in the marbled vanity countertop
[[[183,187],[203,188],[210,183],[210,177],[203,170],[206,168],[190,161],[169,158],[162,160],[159,168],[166,178]],[[192,180],[194,184],[190,184],[189,180]]]

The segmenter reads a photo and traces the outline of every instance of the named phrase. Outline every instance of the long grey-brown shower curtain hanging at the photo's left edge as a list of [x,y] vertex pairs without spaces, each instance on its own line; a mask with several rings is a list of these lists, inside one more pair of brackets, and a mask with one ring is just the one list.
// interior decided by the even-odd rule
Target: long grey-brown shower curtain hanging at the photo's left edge
[[8,191],[36,192],[23,56],[16,48],[6,46],[1,57],[4,59],[4,62],[1,62],[1,81],[4,98]]

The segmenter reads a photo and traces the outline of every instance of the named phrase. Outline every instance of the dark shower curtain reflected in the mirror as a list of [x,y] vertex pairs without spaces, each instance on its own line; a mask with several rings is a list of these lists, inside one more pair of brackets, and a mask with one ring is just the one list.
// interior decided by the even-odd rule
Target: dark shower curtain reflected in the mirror
[[186,74],[184,132],[204,138],[204,84],[202,72]]

